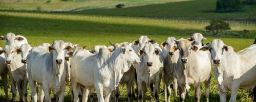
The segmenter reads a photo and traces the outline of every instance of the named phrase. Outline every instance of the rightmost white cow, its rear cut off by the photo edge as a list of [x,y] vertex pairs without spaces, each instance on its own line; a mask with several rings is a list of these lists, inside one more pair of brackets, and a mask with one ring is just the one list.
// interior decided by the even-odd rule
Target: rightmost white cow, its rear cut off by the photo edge
[[236,53],[233,47],[220,39],[214,39],[200,50],[207,49],[211,49],[214,59],[220,101],[226,101],[228,91],[231,91],[229,101],[236,101],[238,88],[243,88],[246,92],[253,89],[256,85],[256,44]]

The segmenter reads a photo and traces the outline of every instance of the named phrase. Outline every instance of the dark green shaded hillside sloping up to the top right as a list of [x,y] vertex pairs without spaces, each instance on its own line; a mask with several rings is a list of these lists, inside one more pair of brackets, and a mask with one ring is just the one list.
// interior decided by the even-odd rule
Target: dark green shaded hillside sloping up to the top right
[[244,10],[240,12],[219,13],[215,11],[215,4],[216,0],[195,0],[122,9],[86,10],[77,12],[76,14],[153,18],[256,20],[256,5],[246,5]]

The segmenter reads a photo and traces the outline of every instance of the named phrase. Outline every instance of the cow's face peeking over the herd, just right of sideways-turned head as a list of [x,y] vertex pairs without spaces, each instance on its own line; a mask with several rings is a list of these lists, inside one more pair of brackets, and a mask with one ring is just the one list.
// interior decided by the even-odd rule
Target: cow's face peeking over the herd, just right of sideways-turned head
[[154,39],[148,38],[147,36],[141,36],[138,40],[134,41],[134,45],[139,44],[140,50],[144,48],[145,44],[150,44],[150,43],[154,44],[156,43],[156,41]]

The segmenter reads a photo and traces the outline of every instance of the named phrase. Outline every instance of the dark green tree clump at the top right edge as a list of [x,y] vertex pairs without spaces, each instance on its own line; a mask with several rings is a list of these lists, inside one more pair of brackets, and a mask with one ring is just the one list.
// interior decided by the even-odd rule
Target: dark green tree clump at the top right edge
[[216,2],[216,10],[221,12],[240,11],[243,4],[240,0],[218,0]]

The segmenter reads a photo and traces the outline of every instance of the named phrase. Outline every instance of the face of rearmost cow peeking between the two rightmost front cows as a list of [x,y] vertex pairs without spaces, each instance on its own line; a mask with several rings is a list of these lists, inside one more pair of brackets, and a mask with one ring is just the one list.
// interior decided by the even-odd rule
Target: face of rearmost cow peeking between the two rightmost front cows
[[206,38],[203,37],[203,35],[200,33],[195,33],[188,40],[195,40],[195,42],[192,43],[192,45],[203,45],[203,40],[206,40]]

